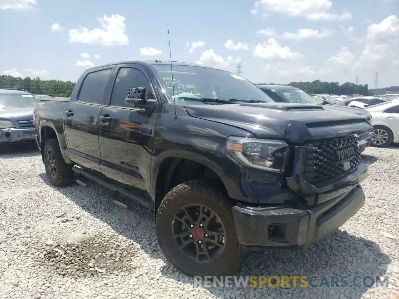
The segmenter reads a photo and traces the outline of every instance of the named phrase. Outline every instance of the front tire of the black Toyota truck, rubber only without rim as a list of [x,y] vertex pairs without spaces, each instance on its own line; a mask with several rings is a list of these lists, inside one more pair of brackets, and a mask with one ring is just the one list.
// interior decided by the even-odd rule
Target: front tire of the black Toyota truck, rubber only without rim
[[[225,249],[221,256],[206,264],[184,256],[172,238],[172,219],[175,212],[188,203],[199,203],[213,210],[223,222],[226,234]],[[225,192],[210,181],[191,180],[182,183],[165,195],[156,213],[156,234],[160,248],[170,263],[188,276],[234,275],[241,268],[248,252],[240,251],[231,200]]]

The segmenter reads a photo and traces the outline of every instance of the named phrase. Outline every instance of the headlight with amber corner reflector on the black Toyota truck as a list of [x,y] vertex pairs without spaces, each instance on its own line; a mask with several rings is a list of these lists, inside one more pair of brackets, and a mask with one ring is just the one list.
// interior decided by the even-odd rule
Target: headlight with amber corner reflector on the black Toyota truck
[[286,165],[288,144],[280,140],[229,137],[227,150],[242,165],[282,173]]

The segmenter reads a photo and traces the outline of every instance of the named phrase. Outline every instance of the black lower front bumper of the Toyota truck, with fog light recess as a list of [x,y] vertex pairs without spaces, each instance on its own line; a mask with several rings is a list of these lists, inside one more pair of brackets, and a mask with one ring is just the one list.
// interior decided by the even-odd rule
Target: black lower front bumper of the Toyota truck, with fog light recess
[[307,247],[324,238],[365,203],[360,185],[324,203],[302,209],[288,207],[233,207],[239,243],[248,249]]

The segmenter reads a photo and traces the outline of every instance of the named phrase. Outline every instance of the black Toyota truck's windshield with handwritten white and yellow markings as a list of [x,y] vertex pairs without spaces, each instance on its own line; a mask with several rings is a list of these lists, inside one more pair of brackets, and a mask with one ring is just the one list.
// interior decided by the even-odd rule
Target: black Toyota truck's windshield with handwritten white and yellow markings
[[[160,76],[169,95],[175,99],[176,105],[184,105],[188,102],[190,104],[211,103],[196,100],[199,98],[224,101],[235,99],[238,102],[251,100],[274,102],[247,79],[227,71],[194,65],[173,65],[172,77],[170,65],[152,65],[152,67]],[[217,104],[223,104],[223,102],[220,101]]]

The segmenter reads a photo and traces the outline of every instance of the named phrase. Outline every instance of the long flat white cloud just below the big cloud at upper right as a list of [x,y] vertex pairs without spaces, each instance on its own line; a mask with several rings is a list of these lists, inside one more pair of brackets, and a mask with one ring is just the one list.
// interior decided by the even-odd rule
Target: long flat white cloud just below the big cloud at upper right
[[302,28],[295,32],[284,31],[279,34],[275,28],[267,28],[257,31],[258,34],[266,35],[268,37],[280,37],[282,39],[294,39],[296,41],[302,41],[304,39],[322,39],[331,37],[334,34],[333,30],[324,29],[322,31]]

